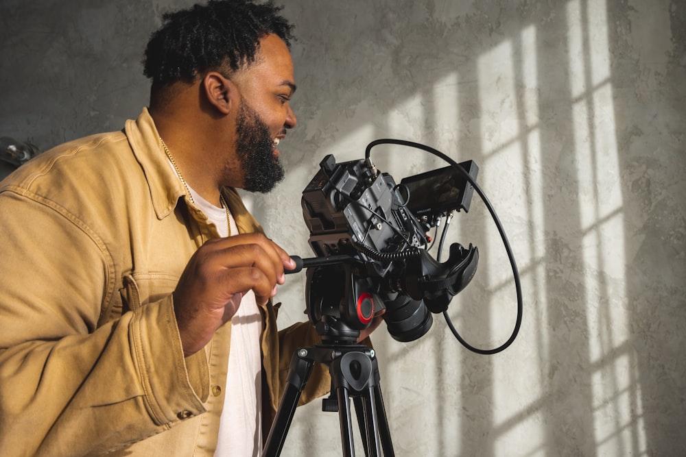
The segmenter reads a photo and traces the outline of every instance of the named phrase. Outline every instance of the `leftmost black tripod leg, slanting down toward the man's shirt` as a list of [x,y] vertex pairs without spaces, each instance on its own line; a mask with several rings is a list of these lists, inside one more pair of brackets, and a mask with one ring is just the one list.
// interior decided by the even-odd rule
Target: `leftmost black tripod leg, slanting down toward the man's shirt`
[[295,415],[296,406],[298,406],[298,400],[300,400],[303,388],[309,379],[309,375],[312,373],[314,360],[300,357],[298,354],[307,356],[308,351],[307,349],[300,349],[291,359],[285,390],[281,397],[281,401],[279,402],[279,409],[276,410],[276,417],[274,417],[272,428],[269,431],[269,436],[265,443],[263,451],[263,456],[265,457],[277,457],[281,454],[288,428]]

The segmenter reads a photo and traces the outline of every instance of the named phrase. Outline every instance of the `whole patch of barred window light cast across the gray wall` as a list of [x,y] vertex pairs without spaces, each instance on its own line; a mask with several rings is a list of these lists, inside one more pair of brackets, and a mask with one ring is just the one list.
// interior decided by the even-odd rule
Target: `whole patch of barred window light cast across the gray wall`
[[[456,380],[442,370],[456,362],[441,349],[458,343],[433,334],[435,328],[430,338],[410,344],[375,339],[384,358],[381,383],[391,428],[421,434],[412,440],[416,444],[396,449],[401,455],[426,452],[427,441],[440,456],[475,455],[475,449],[484,457],[648,455],[624,290],[624,196],[607,4],[569,0],[553,8],[556,25],[566,26],[555,34],[564,37],[563,43],[551,44],[555,38],[542,25],[525,25],[482,51],[470,62],[472,70],[458,66],[436,75],[386,116],[362,119],[340,139],[341,150],[355,153],[337,158],[351,160],[359,158],[359,145],[370,138],[423,138],[436,145],[430,132],[456,132],[455,147],[446,152],[473,159],[484,171],[497,170],[480,173],[480,184],[486,194],[501,190],[495,203],[499,212],[516,208],[510,211],[514,221],[508,221],[514,230],[506,231],[525,294],[522,332],[527,334],[520,334],[516,344],[519,354],[528,357],[468,360],[466,349],[459,347],[462,380]],[[554,74],[549,74],[551,60],[558,66]],[[368,118],[375,118],[373,107],[366,107]],[[478,112],[462,112],[475,107]],[[459,125],[470,116],[473,125]],[[472,142],[461,145],[466,136]],[[407,162],[380,157],[375,159],[379,169],[397,178],[402,175],[396,175],[394,165],[407,172]],[[435,164],[427,162],[427,169]],[[505,309],[501,304],[512,304],[514,296],[511,271],[490,255],[502,247],[495,225],[485,218],[479,224],[490,241],[479,246],[480,273],[486,278],[479,287],[486,290],[480,306],[487,311],[480,314],[486,324],[478,325],[484,325],[484,333],[493,338],[491,347],[496,347],[511,327],[493,310]],[[462,230],[458,225],[451,230]],[[457,238],[471,241],[466,232]],[[469,288],[465,292],[471,293]],[[458,328],[473,324],[462,304],[451,305],[450,312]],[[408,360],[418,360],[422,369],[409,366]],[[516,367],[521,364],[525,366]],[[433,373],[433,384],[422,384],[427,376],[417,371]],[[429,410],[427,398],[438,408]],[[393,415],[394,410],[412,410],[412,415]],[[478,415],[469,415],[475,410]],[[394,441],[410,439],[394,436]]]

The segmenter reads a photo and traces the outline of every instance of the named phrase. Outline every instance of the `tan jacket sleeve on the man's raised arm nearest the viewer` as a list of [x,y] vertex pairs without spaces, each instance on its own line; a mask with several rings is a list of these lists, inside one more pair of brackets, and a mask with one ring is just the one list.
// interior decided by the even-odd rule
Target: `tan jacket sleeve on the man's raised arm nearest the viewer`
[[101,454],[204,412],[171,295],[101,319],[121,278],[94,232],[49,201],[0,208],[0,455]]

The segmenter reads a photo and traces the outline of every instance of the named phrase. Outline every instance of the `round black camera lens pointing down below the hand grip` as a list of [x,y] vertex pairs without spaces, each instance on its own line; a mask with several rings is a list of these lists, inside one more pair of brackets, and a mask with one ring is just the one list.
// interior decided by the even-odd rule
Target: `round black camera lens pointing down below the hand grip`
[[396,341],[403,342],[421,338],[434,323],[434,318],[423,301],[400,294],[395,299],[386,301],[383,320],[386,321],[390,336]]

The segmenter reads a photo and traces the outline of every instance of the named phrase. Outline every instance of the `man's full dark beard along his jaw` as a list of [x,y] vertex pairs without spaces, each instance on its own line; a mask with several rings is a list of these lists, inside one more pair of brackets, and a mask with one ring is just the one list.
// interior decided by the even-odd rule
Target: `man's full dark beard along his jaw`
[[236,119],[236,150],[245,190],[268,193],[283,180],[285,173],[279,158],[274,156],[274,138],[269,127],[243,97]]

